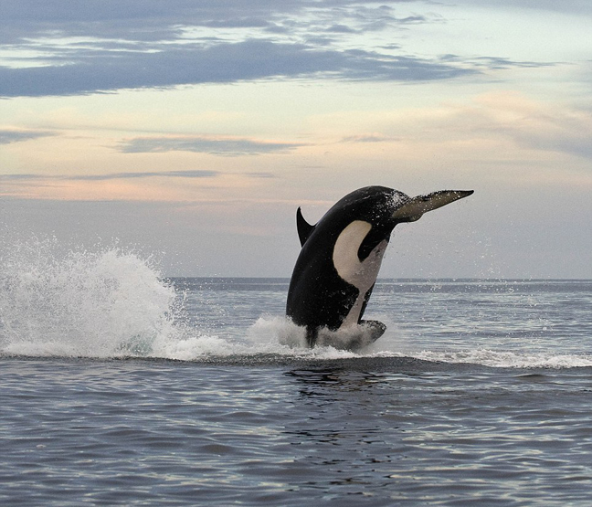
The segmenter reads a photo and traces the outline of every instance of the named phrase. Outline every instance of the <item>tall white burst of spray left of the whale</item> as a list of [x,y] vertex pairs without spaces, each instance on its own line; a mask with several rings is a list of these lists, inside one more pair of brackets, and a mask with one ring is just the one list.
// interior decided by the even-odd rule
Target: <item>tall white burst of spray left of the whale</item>
[[115,247],[59,250],[51,238],[4,246],[4,354],[146,354],[156,338],[176,333],[174,289],[149,260]]

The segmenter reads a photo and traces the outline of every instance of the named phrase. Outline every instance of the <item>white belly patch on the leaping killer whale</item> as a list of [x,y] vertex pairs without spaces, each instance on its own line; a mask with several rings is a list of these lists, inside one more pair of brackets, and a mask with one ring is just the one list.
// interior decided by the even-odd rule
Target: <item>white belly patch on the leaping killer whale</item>
[[337,270],[337,274],[359,290],[354,306],[341,325],[342,328],[358,323],[364,306],[365,293],[375,284],[380,264],[385,255],[386,245],[388,245],[384,239],[361,262],[357,253],[371,228],[372,224],[364,220],[354,220],[344,228],[333,247],[333,266]]

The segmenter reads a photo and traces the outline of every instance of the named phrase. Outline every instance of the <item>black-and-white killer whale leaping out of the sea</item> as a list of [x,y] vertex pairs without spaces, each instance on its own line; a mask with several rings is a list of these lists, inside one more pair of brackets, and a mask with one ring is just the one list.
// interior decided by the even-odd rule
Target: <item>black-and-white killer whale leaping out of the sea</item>
[[442,190],[409,197],[393,188],[365,186],[345,195],[314,226],[299,207],[301,252],[291,276],[286,315],[306,328],[308,345],[355,349],[382,336],[385,324],[362,317],[393,228],[472,193]]

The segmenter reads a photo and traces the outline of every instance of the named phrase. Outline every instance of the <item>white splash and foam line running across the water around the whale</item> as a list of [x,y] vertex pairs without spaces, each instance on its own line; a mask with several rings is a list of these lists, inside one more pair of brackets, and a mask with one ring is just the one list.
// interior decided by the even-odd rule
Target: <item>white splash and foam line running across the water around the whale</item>
[[409,350],[389,331],[358,352],[308,349],[304,330],[283,316],[261,317],[240,337],[202,332],[189,323],[183,293],[153,261],[132,250],[68,249],[52,238],[0,250],[0,355],[144,357],[204,361],[243,357],[332,360],[409,357],[428,362],[504,368],[592,366],[592,355],[529,354],[488,349]]

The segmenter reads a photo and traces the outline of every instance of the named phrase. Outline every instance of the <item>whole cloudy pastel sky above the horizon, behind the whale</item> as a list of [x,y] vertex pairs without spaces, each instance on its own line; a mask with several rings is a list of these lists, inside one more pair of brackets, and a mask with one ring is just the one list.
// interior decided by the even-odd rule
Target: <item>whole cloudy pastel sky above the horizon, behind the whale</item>
[[295,214],[474,195],[381,277],[592,278],[587,0],[0,6],[0,240],[117,244],[167,276],[289,277]]

